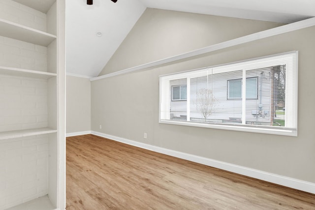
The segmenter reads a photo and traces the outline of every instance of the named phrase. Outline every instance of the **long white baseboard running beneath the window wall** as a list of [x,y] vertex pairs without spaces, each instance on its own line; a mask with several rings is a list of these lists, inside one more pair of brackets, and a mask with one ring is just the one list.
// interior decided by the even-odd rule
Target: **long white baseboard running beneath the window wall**
[[302,190],[305,192],[310,192],[310,193],[315,194],[315,183],[312,183],[312,182],[297,180],[297,179],[293,179],[293,178],[289,178],[289,177],[284,177],[281,175],[272,174],[272,173],[268,173],[268,172],[264,172],[264,171],[259,171],[259,170],[239,166],[239,165],[234,165],[234,164],[230,164],[230,163],[226,163],[226,162],[222,162],[222,161],[218,161],[218,160],[213,160],[210,158],[205,158],[205,157],[201,157],[201,156],[197,156],[197,155],[193,155],[193,154],[180,152],[180,151],[168,150],[165,148],[161,148],[161,147],[157,147],[157,146],[153,146],[153,145],[149,145],[149,144],[144,144],[141,142],[136,142],[136,141],[132,141],[129,139],[120,138],[117,136],[112,136],[112,135],[99,133],[99,132],[95,132],[95,131],[92,131],[91,134],[94,134],[94,135],[100,136],[100,137],[104,137],[107,139],[111,139],[111,140],[114,140],[117,142],[122,142],[122,143],[132,145],[135,147],[143,148],[146,150],[156,151],[156,152],[159,152],[162,154],[167,154],[170,156],[178,157],[181,159],[189,160],[192,162],[200,163],[203,165],[211,166],[211,167],[222,169],[225,171],[241,174],[241,175],[252,177],[252,178],[255,178],[258,180],[269,181],[271,183],[280,184],[280,185],[283,185],[286,187],[291,187],[294,189],[298,189],[298,190]]

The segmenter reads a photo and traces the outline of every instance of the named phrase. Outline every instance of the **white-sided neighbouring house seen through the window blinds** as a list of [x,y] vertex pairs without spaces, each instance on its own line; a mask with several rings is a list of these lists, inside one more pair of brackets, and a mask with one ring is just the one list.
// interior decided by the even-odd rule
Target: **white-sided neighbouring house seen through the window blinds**
[[[285,77],[285,66],[273,66],[264,69],[247,71],[247,97],[246,97],[246,124],[265,124],[271,125],[271,114],[275,114],[275,109],[282,109],[284,101],[275,106],[271,105],[272,97],[279,99],[275,89],[272,87],[272,80],[275,80],[277,72],[281,71]],[[229,72],[228,74],[212,74],[208,76],[190,78],[190,120],[223,122],[223,123],[241,123],[242,122],[242,88],[229,86],[230,81],[240,81],[242,85],[242,71]],[[272,76],[274,74],[274,76]],[[187,86],[187,80],[170,81],[170,90],[172,87]],[[213,110],[206,119],[202,111],[198,109],[198,103],[207,103],[201,101],[198,94],[202,90],[210,90],[213,97]],[[240,97],[229,97],[229,91]],[[239,92],[239,94],[237,94]],[[206,94],[206,93],[204,93]],[[251,97],[249,97],[249,95]],[[207,104],[206,104],[207,105]],[[273,109],[273,110],[272,110]],[[170,98],[170,114],[172,120],[187,119],[187,100],[172,100]],[[275,117],[275,116],[274,116]]]

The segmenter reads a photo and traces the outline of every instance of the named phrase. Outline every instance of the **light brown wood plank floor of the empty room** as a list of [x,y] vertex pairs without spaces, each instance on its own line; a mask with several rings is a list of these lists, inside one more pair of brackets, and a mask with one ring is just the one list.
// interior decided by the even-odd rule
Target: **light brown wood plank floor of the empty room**
[[315,195],[94,135],[66,140],[66,210],[315,210]]

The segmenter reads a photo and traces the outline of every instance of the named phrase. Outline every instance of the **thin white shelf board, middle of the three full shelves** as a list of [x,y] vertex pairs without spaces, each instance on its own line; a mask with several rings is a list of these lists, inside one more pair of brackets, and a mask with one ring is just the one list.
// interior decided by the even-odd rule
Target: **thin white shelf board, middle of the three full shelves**
[[49,79],[51,77],[56,77],[56,73],[50,73],[45,71],[34,71],[30,69],[23,68],[13,68],[0,66],[0,74],[9,75],[9,76],[19,76],[19,77],[32,77],[38,79]]

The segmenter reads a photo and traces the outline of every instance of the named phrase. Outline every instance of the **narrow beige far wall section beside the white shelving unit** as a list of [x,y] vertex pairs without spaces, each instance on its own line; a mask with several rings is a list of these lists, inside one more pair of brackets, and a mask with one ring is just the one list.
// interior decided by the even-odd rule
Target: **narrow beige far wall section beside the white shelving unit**
[[66,76],[66,133],[90,130],[90,79]]

